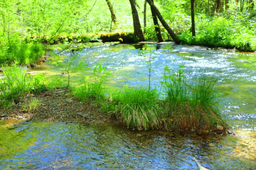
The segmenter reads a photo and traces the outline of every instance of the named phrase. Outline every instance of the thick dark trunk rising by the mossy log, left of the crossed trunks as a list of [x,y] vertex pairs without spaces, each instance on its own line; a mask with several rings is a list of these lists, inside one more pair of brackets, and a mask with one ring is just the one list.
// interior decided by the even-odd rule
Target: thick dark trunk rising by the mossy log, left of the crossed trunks
[[136,9],[135,0],[130,0],[130,4],[132,8],[134,36],[138,37],[140,41],[145,41],[141,26],[140,26],[140,19]]

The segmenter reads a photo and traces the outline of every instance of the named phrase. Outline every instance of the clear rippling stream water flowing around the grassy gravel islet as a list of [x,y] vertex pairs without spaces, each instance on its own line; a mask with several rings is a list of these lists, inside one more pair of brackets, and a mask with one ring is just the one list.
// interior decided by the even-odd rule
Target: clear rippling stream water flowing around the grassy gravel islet
[[[197,169],[193,157],[212,170],[256,169],[256,55],[173,43],[116,44],[77,51],[73,65],[106,66],[113,74],[106,84],[109,92],[125,84],[147,86],[147,57],[140,55],[140,48],[151,49],[151,84],[158,90],[166,64],[176,69],[183,63],[188,77],[203,70],[216,78],[222,116],[236,135],[46,122],[22,122],[10,128],[15,122],[0,121],[0,169]],[[70,53],[60,58],[66,64],[69,59]],[[63,76],[60,67],[49,63],[30,70],[38,72],[49,80]],[[72,74],[72,83],[91,72]]]

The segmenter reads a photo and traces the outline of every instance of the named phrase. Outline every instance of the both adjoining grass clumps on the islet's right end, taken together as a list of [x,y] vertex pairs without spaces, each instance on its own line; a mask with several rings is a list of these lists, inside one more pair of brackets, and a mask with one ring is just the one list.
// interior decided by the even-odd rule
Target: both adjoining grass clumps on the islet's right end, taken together
[[110,112],[136,129],[205,131],[217,125],[226,127],[219,115],[215,81],[204,74],[187,79],[182,65],[177,72],[165,69],[164,100],[156,90],[125,88],[113,95]]

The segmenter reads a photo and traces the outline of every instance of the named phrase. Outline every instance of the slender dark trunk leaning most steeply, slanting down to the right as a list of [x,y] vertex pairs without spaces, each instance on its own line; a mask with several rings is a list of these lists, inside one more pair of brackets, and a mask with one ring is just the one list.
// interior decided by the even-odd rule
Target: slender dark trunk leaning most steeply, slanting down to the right
[[172,29],[169,27],[169,25],[166,23],[166,21],[164,21],[164,18],[162,17],[161,13],[159,12],[159,10],[156,8],[156,6],[154,5],[154,3],[152,2],[152,0],[147,0],[148,4],[150,5],[150,7],[152,8],[152,10],[154,11],[154,14],[156,14],[156,16],[158,17],[158,19],[160,20],[160,22],[162,23],[162,25],[164,26],[164,28],[167,30],[167,32],[170,34],[170,36],[172,37],[172,39],[174,40],[175,43],[180,44],[180,39],[177,37],[177,35],[172,31]]

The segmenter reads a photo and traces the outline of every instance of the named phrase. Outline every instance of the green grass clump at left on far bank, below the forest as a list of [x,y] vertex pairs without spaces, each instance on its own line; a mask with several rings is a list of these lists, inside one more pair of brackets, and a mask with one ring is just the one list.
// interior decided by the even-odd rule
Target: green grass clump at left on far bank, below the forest
[[19,63],[22,66],[34,66],[42,60],[46,50],[41,43],[15,43],[10,42],[2,47],[0,64]]

